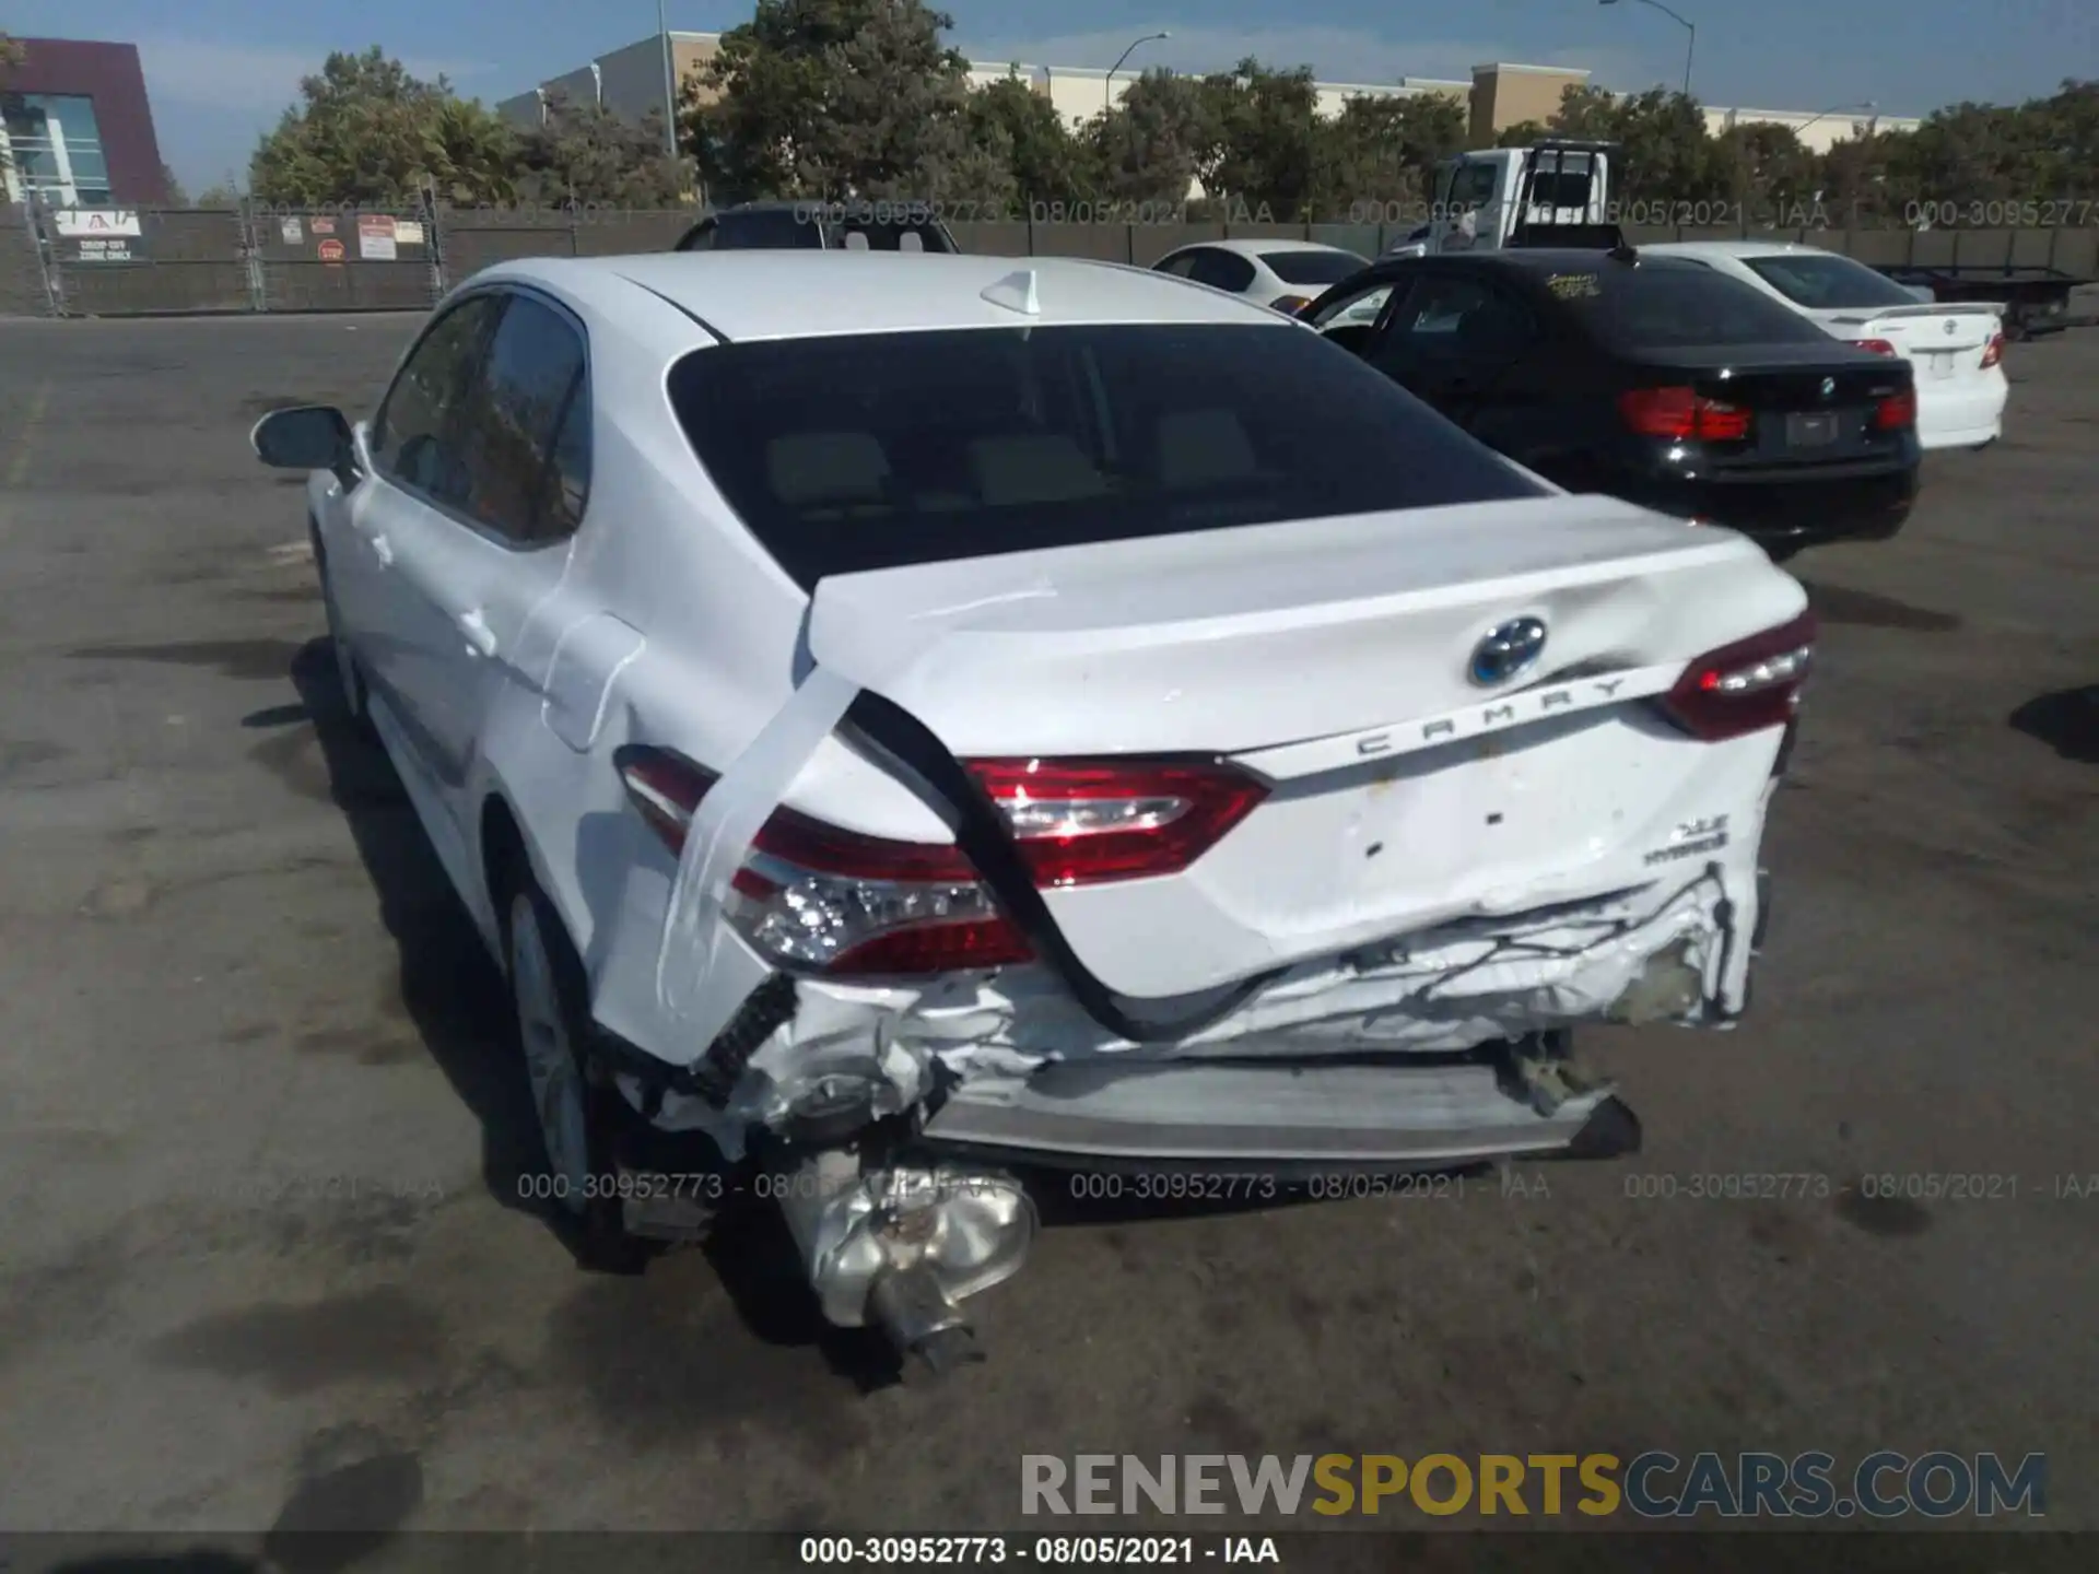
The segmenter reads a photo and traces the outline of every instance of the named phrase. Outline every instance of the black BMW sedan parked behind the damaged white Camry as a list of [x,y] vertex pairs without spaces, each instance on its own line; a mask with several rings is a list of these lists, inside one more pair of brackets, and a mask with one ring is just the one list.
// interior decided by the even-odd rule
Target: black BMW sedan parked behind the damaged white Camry
[[1893,535],[1916,497],[1908,363],[1688,258],[1402,258],[1299,317],[1549,481],[1732,525],[1776,556]]

